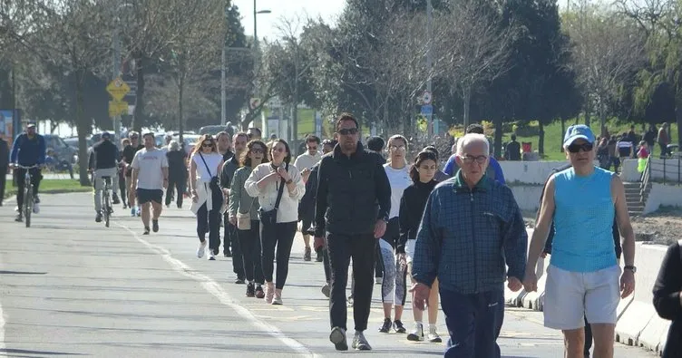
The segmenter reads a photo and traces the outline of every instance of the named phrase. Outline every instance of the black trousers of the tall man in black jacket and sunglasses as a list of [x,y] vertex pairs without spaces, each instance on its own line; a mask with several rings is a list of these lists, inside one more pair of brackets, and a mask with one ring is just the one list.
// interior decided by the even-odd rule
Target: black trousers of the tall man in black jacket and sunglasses
[[369,309],[372,305],[372,289],[375,285],[376,239],[373,233],[363,235],[336,235],[326,233],[326,249],[331,268],[331,294],[329,317],[331,326],[345,330],[347,321],[346,285],[348,265],[353,257],[353,319],[356,331],[367,329]]

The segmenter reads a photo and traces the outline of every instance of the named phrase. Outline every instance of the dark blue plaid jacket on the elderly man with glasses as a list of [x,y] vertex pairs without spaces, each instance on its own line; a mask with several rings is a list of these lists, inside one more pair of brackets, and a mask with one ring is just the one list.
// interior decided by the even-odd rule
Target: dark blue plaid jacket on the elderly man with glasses
[[473,188],[462,172],[432,191],[417,233],[413,277],[463,295],[523,279],[528,234],[511,189],[487,177]]

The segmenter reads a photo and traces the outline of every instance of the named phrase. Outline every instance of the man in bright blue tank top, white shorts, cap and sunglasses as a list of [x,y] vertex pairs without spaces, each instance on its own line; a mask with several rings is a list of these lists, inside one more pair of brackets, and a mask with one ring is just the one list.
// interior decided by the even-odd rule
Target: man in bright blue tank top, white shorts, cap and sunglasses
[[[527,292],[537,291],[535,270],[553,220],[544,323],[563,331],[571,358],[584,354],[583,316],[592,329],[594,356],[613,357],[617,307],[635,289],[635,234],[625,188],[618,175],[594,165],[594,142],[588,126],[566,131],[563,146],[571,167],[547,182],[523,280]],[[623,237],[622,275],[613,249],[614,216]]]

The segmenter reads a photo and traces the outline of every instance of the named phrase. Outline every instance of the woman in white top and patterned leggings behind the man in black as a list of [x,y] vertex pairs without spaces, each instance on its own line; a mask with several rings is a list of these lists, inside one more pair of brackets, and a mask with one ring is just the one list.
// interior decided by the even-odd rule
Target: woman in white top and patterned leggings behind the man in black
[[[404,252],[398,253],[396,247],[400,238],[400,199],[404,189],[412,184],[410,169],[407,166],[407,140],[402,135],[388,139],[389,159],[384,165],[388,182],[391,184],[391,212],[388,215],[386,233],[379,240],[379,264],[384,268],[384,280],[381,284],[381,297],[384,302],[384,324],[379,332],[388,333],[391,326],[398,334],[405,333],[403,306],[407,294],[407,263]],[[391,309],[395,305],[395,321],[391,321]]]

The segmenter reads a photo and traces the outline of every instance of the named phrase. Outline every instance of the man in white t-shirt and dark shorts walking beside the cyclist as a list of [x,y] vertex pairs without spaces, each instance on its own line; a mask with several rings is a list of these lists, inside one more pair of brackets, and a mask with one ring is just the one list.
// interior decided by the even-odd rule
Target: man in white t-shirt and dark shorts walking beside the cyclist
[[163,189],[168,187],[168,159],[163,151],[154,146],[154,134],[146,133],[144,149],[138,150],[132,159],[132,188],[131,193],[138,199],[142,207],[143,235],[149,235],[150,203],[154,209],[151,219],[154,232],[159,231],[159,217],[161,216],[161,198]]

